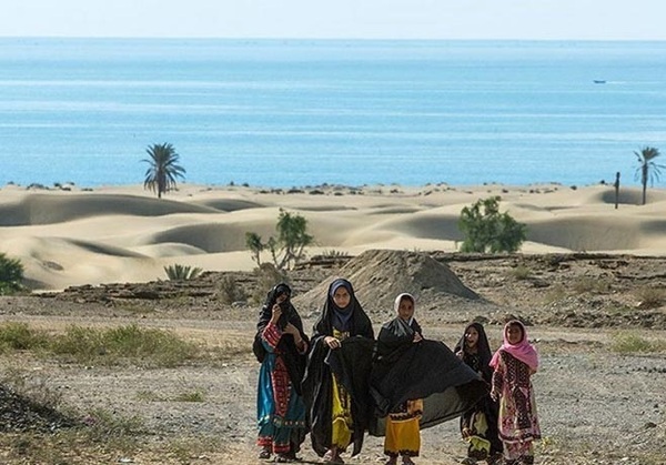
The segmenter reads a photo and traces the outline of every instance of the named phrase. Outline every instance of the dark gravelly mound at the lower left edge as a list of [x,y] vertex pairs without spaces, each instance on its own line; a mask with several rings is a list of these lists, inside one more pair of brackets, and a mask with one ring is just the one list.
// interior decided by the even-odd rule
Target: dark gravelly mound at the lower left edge
[[53,432],[75,422],[54,408],[40,405],[0,384],[0,433]]

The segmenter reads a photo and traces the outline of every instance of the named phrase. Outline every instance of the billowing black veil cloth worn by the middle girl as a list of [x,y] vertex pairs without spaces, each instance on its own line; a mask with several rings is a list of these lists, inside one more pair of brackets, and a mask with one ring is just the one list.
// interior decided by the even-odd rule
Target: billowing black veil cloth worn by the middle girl
[[374,436],[385,434],[385,416],[410,400],[423,400],[421,428],[437,425],[475,405],[486,384],[442,342],[423,340],[416,321],[400,317],[384,324],[377,337],[371,374],[375,414],[369,425]]

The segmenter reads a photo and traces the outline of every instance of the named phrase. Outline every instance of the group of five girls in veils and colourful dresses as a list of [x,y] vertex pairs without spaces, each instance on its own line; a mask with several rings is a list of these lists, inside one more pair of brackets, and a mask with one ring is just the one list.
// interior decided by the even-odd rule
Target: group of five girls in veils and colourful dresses
[[421,429],[460,417],[464,464],[533,464],[541,433],[529,376],[537,356],[525,326],[507,323],[492,355],[483,326],[472,323],[451,351],[424,337],[414,307],[414,296],[400,294],[396,316],[375,340],[352,284],[336,279],[309,337],[291,289],[274,286],[253,345],[261,362],[259,457],[297,461],[309,433],[324,463],[344,464],[341,454],[359,454],[369,432],[384,436],[386,465],[411,465]]

